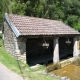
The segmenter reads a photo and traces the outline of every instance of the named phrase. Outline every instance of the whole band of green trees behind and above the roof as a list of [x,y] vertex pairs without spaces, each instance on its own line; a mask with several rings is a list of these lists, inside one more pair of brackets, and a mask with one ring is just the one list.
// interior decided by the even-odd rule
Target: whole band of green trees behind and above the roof
[[61,20],[80,31],[80,0],[1,0],[0,23],[5,12]]

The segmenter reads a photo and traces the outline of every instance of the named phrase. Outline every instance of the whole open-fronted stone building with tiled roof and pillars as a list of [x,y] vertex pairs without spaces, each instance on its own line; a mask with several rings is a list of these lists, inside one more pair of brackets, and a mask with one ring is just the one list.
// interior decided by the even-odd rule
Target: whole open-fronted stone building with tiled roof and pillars
[[4,46],[25,63],[78,57],[80,33],[61,21],[5,13]]

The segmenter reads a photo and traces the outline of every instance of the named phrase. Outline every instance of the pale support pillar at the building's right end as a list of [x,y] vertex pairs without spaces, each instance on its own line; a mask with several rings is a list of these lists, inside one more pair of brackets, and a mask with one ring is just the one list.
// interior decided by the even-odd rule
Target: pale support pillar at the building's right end
[[74,37],[73,39],[73,56],[78,58],[79,57],[79,50],[78,50],[78,41],[77,41],[77,37]]

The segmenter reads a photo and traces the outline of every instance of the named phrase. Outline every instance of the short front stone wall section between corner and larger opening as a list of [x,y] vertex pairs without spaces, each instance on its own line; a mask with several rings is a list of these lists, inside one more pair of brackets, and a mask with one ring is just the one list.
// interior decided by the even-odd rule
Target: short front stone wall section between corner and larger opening
[[25,37],[18,37],[15,41],[15,53],[18,60],[26,63],[26,42],[24,41],[24,38]]

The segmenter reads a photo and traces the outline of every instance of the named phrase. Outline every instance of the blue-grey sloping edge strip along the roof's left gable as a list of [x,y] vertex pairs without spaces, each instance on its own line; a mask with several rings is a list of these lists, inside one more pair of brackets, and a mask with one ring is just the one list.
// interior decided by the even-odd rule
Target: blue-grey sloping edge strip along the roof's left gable
[[7,23],[9,24],[9,26],[11,27],[11,29],[13,30],[14,34],[16,35],[16,37],[19,37],[21,34],[20,32],[18,31],[18,29],[10,22],[8,16],[7,16],[7,13],[5,13],[5,19],[7,21]]

